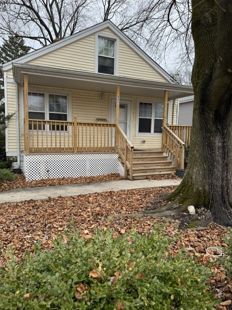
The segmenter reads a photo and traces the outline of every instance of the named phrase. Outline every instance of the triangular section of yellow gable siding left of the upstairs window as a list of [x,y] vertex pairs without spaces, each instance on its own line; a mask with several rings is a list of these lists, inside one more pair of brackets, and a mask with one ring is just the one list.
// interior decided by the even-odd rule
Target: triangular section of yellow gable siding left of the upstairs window
[[28,64],[95,72],[95,34],[38,57]]

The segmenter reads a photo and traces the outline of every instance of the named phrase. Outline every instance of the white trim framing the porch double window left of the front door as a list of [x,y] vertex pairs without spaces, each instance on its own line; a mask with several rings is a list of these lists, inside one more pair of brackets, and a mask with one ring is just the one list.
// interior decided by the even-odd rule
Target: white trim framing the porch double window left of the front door
[[[28,87],[28,92],[45,94],[45,119],[49,120],[49,94],[67,96],[67,121],[72,120],[71,91]],[[24,87],[20,89],[21,135],[24,135]],[[38,111],[39,112],[39,111]],[[41,111],[42,112],[42,111]],[[31,132],[31,130],[29,131]]]

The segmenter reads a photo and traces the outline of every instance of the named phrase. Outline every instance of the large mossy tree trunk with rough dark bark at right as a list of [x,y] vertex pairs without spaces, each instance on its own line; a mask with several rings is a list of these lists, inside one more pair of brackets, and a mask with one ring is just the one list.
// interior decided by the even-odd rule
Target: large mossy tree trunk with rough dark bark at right
[[218,4],[192,0],[193,126],[186,175],[174,195],[232,226],[232,0]]

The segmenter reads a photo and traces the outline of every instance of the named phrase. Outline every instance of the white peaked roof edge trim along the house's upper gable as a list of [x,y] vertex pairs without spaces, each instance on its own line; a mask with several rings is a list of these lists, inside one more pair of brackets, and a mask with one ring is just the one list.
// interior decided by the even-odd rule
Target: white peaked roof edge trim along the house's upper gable
[[158,73],[161,74],[168,82],[175,83],[173,77],[171,77],[161,66],[159,66],[151,57],[149,57],[138,45],[136,45],[130,38],[127,37],[117,26],[115,26],[110,20],[106,20],[99,24],[96,24],[87,29],[81,30],[78,33],[72,34],[67,38],[63,38],[62,40],[52,43],[48,46],[41,47],[36,51],[32,51],[29,54],[21,56],[15,60],[11,60],[2,65],[2,69],[4,71],[12,68],[12,62],[25,64],[28,61],[34,60],[37,57],[43,56],[51,51],[57,50],[60,47],[64,47],[72,42],[75,42],[81,38],[89,36],[95,32],[99,32],[105,28],[109,28],[113,31],[122,41],[124,41],[129,47],[131,47],[142,59],[144,59],[153,69],[155,69]]

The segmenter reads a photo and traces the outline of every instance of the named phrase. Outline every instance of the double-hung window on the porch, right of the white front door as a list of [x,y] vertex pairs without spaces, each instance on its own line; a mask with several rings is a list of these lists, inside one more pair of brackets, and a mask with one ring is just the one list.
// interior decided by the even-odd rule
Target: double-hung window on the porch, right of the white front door
[[162,133],[162,103],[139,100],[137,103],[137,135],[149,136]]

